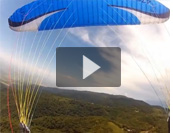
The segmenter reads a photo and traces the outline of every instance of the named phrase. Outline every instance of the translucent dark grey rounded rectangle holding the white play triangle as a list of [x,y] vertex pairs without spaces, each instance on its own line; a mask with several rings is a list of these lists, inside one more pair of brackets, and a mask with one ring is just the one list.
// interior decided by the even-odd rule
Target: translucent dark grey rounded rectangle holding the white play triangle
[[[85,68],[83,68],[84,64]],[[58,87],[119,87],[121,49],[117,47],[57,48],[56,85]]]

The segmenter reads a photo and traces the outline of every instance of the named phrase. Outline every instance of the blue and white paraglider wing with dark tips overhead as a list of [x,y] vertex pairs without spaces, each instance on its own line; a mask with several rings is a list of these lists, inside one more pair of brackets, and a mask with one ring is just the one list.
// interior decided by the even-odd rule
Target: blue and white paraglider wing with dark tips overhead
[[15,31],[40,31],[163,23],[169,16],[170,10],[155,0],[37,0],[16,10],[9,25]]

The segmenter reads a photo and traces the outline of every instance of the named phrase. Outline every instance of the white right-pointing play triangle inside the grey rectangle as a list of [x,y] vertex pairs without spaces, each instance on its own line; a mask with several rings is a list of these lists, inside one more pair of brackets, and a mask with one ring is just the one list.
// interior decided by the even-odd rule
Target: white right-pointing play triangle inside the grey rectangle
[[85,55],[83,55],[83,79],[86,79],[98,69],[100,69],[99,65],[97,65],[92,60],[88,59]]

